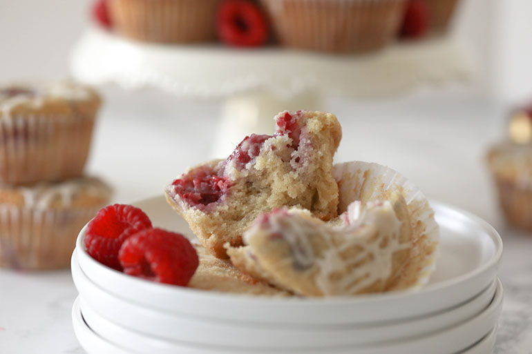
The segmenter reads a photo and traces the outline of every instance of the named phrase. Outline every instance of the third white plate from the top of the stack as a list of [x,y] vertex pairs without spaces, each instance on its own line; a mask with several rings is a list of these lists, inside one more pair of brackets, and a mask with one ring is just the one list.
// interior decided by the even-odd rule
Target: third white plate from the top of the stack
[[[82,299],[82,314],[86,323],[92,331],[107,342],[111,342],[120,348],[127,348],[135,353],[351,353],[351,354],[450,354],[459,353],[466,350],[466,353],[481,353],[473,348],[487,348],[490,344],[490,337],[487,343],[482,338],[486,338],[491,333],[497,323],[500,310],[502,308],[502,284],[497,281],[495,297],[482,313],[469,319],[462,324],[457,324],[444,331],[431,333],[415,337],[412,340],[391,341],[382,344],[372,344],[368,346],[329,346],[329,347],[307,347],[307,348],[237,348],[230,346],[209,346],[200,344],[190,344],[178,341],[162,340],[161,338],[143,335],[131,331],[97,315],[93,309]],[[77,306],[77,304],[75,304]],[[182,328],[174,328],[181,331]],[[204,333],[207,336],[206,333]],[[234,333],[238,337],[239,333]],[[82,340],[80,340],[82,342]],[[478,345],[481,345],[478,347]],[[91,353],[91,352],[89,352]],[[469,354],[468,353],[468,354]]]

